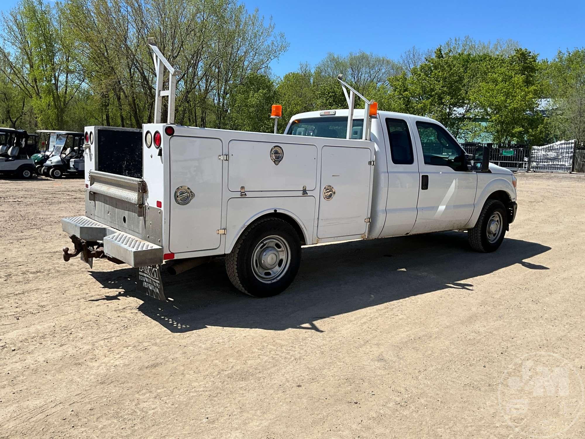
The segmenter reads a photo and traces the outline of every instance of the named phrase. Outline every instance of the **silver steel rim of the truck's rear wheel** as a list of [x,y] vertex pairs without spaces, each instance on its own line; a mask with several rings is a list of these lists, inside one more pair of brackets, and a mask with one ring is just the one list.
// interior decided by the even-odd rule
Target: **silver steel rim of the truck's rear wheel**
[[252,252],[252,272],[260,282],[273,283],[287,272],[290,260],[287,241],[278,235],[266,236]]

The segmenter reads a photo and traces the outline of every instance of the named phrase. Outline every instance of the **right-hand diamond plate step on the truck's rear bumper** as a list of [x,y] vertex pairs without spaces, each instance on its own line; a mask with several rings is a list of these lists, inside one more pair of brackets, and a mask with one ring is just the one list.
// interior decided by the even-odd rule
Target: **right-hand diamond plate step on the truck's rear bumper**
[[163,263],[163,248],[124,232],[104,237],[104,253],[133,267]]

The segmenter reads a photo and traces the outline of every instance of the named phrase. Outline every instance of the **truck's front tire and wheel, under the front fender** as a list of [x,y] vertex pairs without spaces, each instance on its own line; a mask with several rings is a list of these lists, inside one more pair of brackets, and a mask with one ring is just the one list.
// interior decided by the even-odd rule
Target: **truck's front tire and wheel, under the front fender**
[[508,215],[504,204],[500,200],[487,200],[475,227],[467,232],[469,245],[476,252],[493,252],[504,241],[507,228]]

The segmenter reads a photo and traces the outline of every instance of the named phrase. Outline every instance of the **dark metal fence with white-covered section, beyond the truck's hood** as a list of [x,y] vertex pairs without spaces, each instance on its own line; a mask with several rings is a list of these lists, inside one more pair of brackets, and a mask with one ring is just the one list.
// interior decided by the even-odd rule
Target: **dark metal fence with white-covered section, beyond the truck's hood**
[[514,171],[585,172],[585,146],[575,140],[550,145],[498,145],[496,143],[462,143],[473,155],[479,146],[491,146],[490,162]]

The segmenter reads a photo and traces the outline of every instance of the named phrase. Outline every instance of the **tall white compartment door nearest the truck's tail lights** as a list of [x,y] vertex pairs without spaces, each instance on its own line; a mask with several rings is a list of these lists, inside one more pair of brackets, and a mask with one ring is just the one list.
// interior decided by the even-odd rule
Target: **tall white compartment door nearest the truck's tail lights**
[[[156,152],[156,149],[153,149]],[[170,139],[170,233],[173,253],[219,247],[222,205],[222,142],[219,139],[173,136]],[[185,193],[185,188],[191,193]],[[177,203],[175,193],[178,192]],[[185,201],[190,198],[188,203]]]

